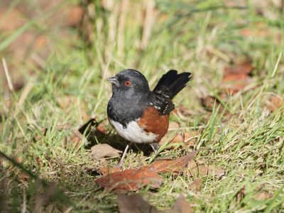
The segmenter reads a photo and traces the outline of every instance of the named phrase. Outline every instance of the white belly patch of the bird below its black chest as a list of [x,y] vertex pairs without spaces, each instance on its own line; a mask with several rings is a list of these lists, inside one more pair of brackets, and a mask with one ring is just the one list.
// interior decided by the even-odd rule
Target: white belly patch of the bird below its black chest
[[119,124],[119,122],[111,121],[111,125],[114,126],[117,133],[127,141],[133,143],[153,143],[157,138],[154,133],[148,133],[138,126],[137,121],[131,121],[127,124],[126,128]]

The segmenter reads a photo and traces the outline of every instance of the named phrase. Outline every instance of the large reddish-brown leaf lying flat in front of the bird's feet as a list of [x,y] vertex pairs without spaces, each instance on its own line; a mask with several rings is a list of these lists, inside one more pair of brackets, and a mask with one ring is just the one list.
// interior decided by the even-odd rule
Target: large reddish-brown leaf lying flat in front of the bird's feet
[[118,173],[111,173],[96,180],[99,186],[115,192],[136,191],[143,185],[158,188],[163,178],[147,167],[138,170],[130,169]]

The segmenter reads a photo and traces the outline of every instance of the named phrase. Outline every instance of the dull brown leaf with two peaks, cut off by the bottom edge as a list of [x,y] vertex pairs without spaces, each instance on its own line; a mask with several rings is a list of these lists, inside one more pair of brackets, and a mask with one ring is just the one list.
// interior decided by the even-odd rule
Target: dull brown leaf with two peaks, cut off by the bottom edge
[[143,197],[139,194],[132,195],[117,195],[119,202],[120,213],[191,213],[193,212],[192,207],[185,200],[183,195],[180,195],[175,201],[172,209],[166,209],[158,211],[151,204],[143,200]]

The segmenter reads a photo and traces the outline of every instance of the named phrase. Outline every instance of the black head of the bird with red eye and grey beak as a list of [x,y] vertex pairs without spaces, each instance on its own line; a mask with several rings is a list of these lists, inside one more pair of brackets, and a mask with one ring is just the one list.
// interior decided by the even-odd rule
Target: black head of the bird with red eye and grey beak
[[112,84],[113,96],[131,98],[143,96],[150,91],[146,77],[137,70],[122,70],[107,80]]

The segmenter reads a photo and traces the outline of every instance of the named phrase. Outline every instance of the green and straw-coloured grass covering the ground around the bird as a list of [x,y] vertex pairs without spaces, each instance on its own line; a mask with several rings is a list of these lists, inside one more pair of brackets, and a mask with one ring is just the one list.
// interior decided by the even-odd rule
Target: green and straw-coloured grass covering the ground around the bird
[[[88,15],[81,28],[69,29],[75,39],[57,36],[50,26],[50,31],[48,27],[40,31],[37,24],[28,24],[45,33],[54,48],[42,68],[25,61],[19,65],[23,89],[0,88],[2,208],[118,212],[116,195],[94,180],[101,177],[96,172],[100,167],[116,165],[119,159],[92,160],[90,150],[84,143],[74,146],[71,135],[91,116],[111,130],[106,114],[111,87],[105,79],[131,67],[146,75],[151,88],[171,68],[193,73],[189,87],[174,100],[193,114],[172,114],[170,120],[178,122],[182,132],[197,131],[195,149],[212,149],[198,153],[195,160],[225,170],[222,177],[201,177],[200,192],[189,189],[197,178],[166,174],[160,189],[138,191],[148,202],[168,209],[182,193],[196,212],[284,212],[284,112],[283,106],[272,112],[267,107],[273,95],[283,98],[284,94],[283,6],[271,1],[265,1],[268,6],[253,1],[242,6],[214,0],[155,1],[153,10],[151,1],[130,1],[119,11],[118,6],[125,4],[121,2],[111,6],[82,1]],[[28,23],[44,23],[48,17]],[[21,33],[19,28],[0,37],[4,50],[0,56],[6,57],[8,67],[17,58],[5,52],[7,42]],[[253,82],[229,95],[223,107],[204,110],[200,98],[219,94],[224,67],[246,60],[254,67]],[[6,107],[6,102],[11,106]],[[59,130],[58,125],[72,129]],[[176,147],[160,156],[177,158],[182,153],[185,150]],[[124,168],[138,168],[150,159],[130,151]],[[23,178],[23,171],[31,177]],[[50,182],[56,182],[57,188]],[[264,191],[270,198],[257,200]]]

